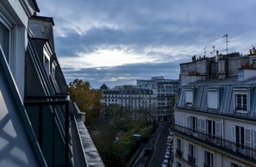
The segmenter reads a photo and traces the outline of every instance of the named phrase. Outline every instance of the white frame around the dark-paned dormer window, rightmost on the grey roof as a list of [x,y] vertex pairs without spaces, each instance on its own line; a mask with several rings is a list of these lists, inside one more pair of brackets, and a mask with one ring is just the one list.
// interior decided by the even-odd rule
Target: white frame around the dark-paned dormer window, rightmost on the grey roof
[[[247,114],[248,111],[249,111],[249,93],[248,93],[248,90],[247,89],[234,89],[234,111],[236,113],[240,113],[240,114]],[[241,96],[241,99],[240,99],[240,105],[241,107],[238,108],[238,96]],[[243,98],[247,98],[247,103],[246,103],[246,110],[244,110],[244,106],[245,104],[243,103]]]

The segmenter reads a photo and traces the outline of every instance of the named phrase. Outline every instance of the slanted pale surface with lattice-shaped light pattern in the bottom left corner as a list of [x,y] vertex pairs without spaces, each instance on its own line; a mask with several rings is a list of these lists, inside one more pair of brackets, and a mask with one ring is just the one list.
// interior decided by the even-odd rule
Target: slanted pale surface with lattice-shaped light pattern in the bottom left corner
[[39,166],[19,113],[22,101],[15,100],[2,67],[0,63],[0,166]]

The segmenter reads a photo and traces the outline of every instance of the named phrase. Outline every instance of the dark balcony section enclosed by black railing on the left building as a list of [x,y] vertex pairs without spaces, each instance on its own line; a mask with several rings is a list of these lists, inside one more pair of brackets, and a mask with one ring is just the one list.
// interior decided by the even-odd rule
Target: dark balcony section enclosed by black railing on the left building
[[69,102],[67,94],[25,97],[28,117],[48,166],[69,166],[71,162]]

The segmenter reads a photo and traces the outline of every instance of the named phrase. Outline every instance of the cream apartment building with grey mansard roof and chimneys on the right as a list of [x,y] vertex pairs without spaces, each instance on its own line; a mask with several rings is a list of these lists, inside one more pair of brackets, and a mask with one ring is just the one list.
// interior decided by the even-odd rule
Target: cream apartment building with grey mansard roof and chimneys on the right
[[180,65],[173,166],[256,166],[255,48]]

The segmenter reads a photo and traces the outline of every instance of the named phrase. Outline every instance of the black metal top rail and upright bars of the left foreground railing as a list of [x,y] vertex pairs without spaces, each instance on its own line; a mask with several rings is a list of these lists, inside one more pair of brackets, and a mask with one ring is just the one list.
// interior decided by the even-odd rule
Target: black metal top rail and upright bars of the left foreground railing
[[[30,107],[38,107],[38,140],[39,145],[42,147],[43,143],[43,112],[46,111],[43,109],[44,106],[49,107],[53,114],[53,145],[52,145],[52,152],[53,152],[53,166],[54,166],[54,155],[55,152],[55,133],[61,133],[62,137],[65,141],[65,166],[68,167],[70,165],[70,148],[69,148],[69,127],[70,127],[70,115],[69,115],[69,95],[57,95],[57,96],[27,96],[25,97],[24,105],[26,108]],[[58,111],[60,108],[59,106],[64,106],[64,111]],[[59,109],[58,109],[59,108]],[[47,109],[48,110],[48,109]],[[48,110],[48,111],[49,111]],[[63,110],[63,109],[60,109]],[[63,121],[58,121],[58,117],[64,117]],[[60,128],[58,128],[60,127]],[[61,128],[62,127],[62,128]],[[59,130],[59,132],[55,132],[55,128]],[[62,129],[64,132],[62,132]]]

